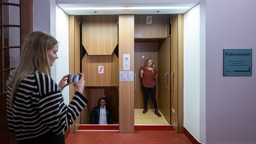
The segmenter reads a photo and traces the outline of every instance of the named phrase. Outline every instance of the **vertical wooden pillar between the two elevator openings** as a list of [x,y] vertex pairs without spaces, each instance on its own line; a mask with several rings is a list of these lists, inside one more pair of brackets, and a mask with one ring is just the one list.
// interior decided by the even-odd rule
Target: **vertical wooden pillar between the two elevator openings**
[[[119,70],[123,71],[123,54],[130,54],[130,71],[134,71],[134,15],[119,15]],[[119,132],[134,133],[134,81],[119,81]]]

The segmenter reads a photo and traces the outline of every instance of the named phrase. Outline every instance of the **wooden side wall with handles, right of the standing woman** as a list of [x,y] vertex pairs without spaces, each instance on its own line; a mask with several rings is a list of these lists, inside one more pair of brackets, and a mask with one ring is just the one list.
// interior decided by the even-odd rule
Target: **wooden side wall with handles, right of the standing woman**
[[171,124],[171,38],[168,37],[158,51],[158,108],[165,119]]

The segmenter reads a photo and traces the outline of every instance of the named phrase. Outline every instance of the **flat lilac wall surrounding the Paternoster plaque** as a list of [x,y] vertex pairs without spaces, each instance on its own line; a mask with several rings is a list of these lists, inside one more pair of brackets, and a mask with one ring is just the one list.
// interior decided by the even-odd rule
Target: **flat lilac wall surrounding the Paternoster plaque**
[[[206,1],[206,143],[256,143],[256,0]],[[252,48],[252,76],[223,76],[224,48]]]

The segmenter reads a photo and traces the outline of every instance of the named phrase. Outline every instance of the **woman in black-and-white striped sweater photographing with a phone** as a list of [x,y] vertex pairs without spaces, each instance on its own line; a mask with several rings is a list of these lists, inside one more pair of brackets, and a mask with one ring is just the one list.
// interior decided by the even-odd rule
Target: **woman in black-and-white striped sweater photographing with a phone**
[[70,104],[64,104],[61,90],[68,85],[68,75],[56,84],[50,74],[57,51],[54,37],[32,32],[21,48],[19,66],[7,80],[8,129],[18,144],[64,144],[64,133],[88,102],[82,95],[84,74],[78,73],[77,91]]

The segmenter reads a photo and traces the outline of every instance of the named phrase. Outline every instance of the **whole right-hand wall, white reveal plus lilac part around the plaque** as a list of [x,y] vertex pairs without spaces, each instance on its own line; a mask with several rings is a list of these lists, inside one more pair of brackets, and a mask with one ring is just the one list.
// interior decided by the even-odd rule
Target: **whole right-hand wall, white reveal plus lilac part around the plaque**
[[196,7],[184,14],[184,127],[201,143],[256,143],[256,72],[223,76],[224,48],[252,48],[252,69],[256,66],[255,5],[255,0],[200,0],[199,24]]

